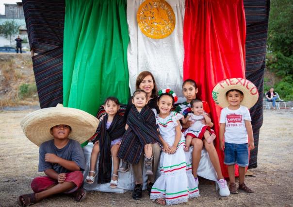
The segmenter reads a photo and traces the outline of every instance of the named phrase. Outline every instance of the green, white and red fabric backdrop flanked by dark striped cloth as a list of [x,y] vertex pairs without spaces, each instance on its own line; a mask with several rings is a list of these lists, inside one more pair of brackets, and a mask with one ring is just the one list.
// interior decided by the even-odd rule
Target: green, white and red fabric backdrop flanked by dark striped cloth
[[[23,0],[41,108],[63,103],[95,116],[108,96],[127,104],[137,75],[148,70],[159,89],[170,87],[181,97],[183,80],[194,79],[218,134],[221,109],[211,94],[218,81],[246,77],[263,93],[269,0],[147,1],[152,5]],[[162,6],[154,10],[156,5]],[[139,18],[147,24],[138,24]],[[156,33],[156,19],[167,22],[167,29]],[[256,148],[249,167],[257,167],[262,96],[250,113]],[[215,144],[227,176],[218,139]]]

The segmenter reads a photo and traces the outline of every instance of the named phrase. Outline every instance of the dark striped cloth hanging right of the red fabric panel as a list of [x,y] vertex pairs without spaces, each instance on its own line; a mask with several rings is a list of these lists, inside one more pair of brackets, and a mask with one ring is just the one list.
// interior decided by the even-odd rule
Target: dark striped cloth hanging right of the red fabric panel
[[263,118],[263,77],[270,10],[269,0],[244,0],[246,19],[245,76],[258,87],[260,97],[250,109],[255,149],[250,152],[248,168],[257,167],[259,133]]

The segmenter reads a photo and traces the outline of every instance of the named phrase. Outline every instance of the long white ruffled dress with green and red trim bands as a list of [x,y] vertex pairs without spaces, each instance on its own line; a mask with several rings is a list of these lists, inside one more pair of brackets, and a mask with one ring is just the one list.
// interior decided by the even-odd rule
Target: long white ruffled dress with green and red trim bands
[[[175,127],[178,126],[177,121],[183,116],[172,111],[165,119],[156,114],[156,121],[159,125],[160,134],[163,139],[172,146],[175,141]],[[191,173],[191,157],[190,153],[185,153],[185,138],[181,133],[175,154],[169,155],[164,152],[160,158],[160,177],[154,183],[150,199],[164,198],[167,205],[174,205],[187,202],[188,198],[199,196],[199,190],[195,184],[194,176]]]

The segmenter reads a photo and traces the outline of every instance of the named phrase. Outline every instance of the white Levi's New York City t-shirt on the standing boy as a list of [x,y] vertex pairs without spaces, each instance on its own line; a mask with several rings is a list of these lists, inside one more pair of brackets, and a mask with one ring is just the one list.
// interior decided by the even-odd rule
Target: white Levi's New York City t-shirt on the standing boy
[[240,105],[236,110],[223,108],[220,116],[220,123],[225,123],[225,142],[244,144],[248,142],[245,120],[251,121],[247,107]]

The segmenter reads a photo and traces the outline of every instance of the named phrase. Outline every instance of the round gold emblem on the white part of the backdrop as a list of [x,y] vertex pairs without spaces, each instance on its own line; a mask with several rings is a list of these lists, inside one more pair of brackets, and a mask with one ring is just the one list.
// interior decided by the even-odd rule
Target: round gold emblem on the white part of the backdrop
[[175,28],[175,14],[165,0],[145,0],[137,11],[137,24],[141,32],[153,39],[165,38]]

